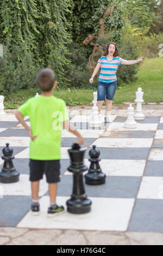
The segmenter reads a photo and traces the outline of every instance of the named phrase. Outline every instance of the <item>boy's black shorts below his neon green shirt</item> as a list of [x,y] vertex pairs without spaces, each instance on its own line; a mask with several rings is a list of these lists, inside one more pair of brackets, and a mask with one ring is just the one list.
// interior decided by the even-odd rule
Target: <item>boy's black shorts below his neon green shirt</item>
[[29,161],[30,181],[39,181],[46,175],[48,183],[57,183],[60,181],[60,160],[33,160]]

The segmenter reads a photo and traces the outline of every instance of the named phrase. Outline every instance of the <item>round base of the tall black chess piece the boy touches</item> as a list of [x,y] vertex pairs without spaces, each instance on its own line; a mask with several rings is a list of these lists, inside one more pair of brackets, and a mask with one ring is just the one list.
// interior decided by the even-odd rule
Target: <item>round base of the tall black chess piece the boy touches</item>
[[67,211],[70,212],[70,214],[87,214],[87,212],[91,211],[91,204],[92,202],[88,198],[71,198],[66,202]]

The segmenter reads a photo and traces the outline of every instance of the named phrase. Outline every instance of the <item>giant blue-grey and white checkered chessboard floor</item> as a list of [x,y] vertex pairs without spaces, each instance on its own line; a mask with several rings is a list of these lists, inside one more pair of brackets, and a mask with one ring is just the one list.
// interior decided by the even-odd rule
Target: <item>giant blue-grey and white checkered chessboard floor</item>
[[[163,117],[146,117],[137,121],[135,129],[126,129],[121,117],[112,117],[111,124],[92,129],[90,116],[71,117],[71,124],[84,137],[84,164],[90,167],[89,151],[96,145],[99,162],[106,174],[103,185],[85,184],[87,197],[92,200],[91,212],[84,215],[65,214],[48,219],[49,205],[46,178],[40,182],[41,214],[30,215],[29,137],[15,117],[0,120],[0,152],[5,143],[14,150],[14,166],[20,172],[15,184],[0,184],[0,226],[26,228],[56,228],[109,231],[163,232]],[[28,117],[27,124],[30,125]],[[71,197],[73,177],[68,172],[70,158],[67,150],[77,138],[65,129],[61,141],[61,182],[58,184],[57,203],[66,208]],[[0,159],[0,171],[3,160]],[[84,175],[87,172],[84,173]],[[13,209],[9,211],[9,209]]]

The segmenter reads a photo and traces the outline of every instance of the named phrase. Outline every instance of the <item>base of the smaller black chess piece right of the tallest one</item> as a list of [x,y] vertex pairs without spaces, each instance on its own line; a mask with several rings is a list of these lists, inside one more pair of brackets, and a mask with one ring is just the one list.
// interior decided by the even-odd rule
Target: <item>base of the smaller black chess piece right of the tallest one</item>
[[84,176],[87,185],[105,184],[106,175],[104,173],[87,173]]

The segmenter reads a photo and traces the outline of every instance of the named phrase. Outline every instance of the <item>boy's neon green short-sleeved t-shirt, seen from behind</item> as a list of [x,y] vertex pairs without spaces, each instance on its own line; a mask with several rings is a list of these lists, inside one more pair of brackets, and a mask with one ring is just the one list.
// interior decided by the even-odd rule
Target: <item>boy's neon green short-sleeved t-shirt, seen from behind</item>
[[33,97],[18,108],[25,117],[29,116],[32,135],[29,158],[33,160],[59,160],[62,122],[68,120],[64,100],[55,96]]

